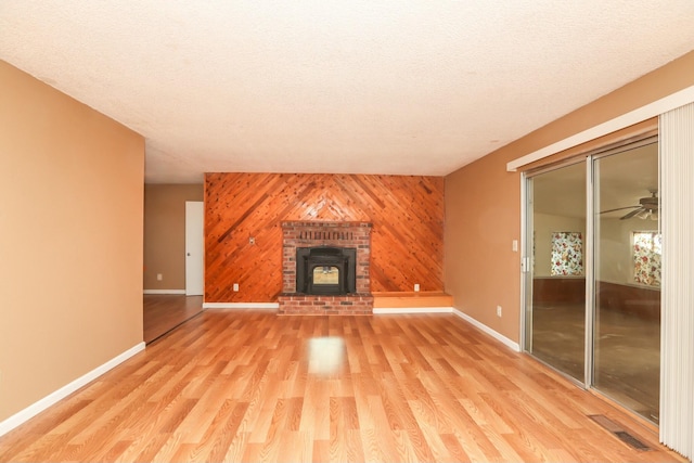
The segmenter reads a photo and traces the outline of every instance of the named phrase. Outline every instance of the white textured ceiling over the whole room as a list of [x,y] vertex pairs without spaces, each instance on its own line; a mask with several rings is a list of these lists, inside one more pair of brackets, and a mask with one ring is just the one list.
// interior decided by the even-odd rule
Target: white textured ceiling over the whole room
[[205,171],[447,175],[689,52],[692,0],[0,0],[0,59]]

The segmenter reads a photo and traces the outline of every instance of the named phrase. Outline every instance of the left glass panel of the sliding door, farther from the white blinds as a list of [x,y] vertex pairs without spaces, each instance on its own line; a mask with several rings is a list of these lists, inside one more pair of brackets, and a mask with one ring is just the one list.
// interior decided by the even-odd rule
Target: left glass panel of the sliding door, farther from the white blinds
[[586,164],[528,179],[526,350],[583,383]]

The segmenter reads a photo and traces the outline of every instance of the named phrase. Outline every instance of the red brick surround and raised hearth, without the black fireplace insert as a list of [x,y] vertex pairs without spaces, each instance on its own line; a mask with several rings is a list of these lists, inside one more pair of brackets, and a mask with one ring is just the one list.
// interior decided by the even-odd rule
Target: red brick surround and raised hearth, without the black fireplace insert
[[[371,265],[371,223],[369,222],[282,222],[283,293],[278,298],[280,313],[286,314],[370,314],[373,296]],[[334,246],[357,249],[356,293],[307,295],[296,292],[296,248]]]

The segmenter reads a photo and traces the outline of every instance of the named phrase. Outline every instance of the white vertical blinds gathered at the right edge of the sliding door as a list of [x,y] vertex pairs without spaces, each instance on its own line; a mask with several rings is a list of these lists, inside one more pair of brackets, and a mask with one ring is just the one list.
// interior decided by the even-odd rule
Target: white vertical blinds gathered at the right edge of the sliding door
[[694,103],[660,116],[660,440],[694,454]]

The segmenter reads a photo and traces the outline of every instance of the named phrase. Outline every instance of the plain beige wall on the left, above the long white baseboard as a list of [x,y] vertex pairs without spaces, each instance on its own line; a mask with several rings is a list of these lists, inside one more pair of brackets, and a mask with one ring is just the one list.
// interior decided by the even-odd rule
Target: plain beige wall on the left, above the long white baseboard
[[142,342],[144,140],[0,61],[0,422]]

